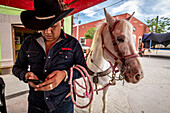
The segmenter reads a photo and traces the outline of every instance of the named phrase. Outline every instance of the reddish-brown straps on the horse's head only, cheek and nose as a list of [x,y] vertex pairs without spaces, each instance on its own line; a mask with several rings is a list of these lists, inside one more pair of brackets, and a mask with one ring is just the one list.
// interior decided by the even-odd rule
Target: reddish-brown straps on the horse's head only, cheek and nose
[[115,68],[117,67],[117,65],[122,62],[123,66],[121,68],[121,72],[125,71],[125,68],[126,68],[126,65],[125,65],[125,62],[126,60],[128,59],[131,59],[131,58],[135,58],[135,57],[138,57],[138,54],[134,53],[134,54],[131,54],[131,55],[126,55],[126,56],[122,56],[122,54],[120,54],[120,50],[118,48],[118,44],[116,43],[116,40],[115,40],[115,36],[112,34],[112,32],[114,31],[116,25],[119,23],[119,20],[116,20],[116,22],[113,24],[112,27],[109,27],[109,32],[110,32],[110,36],[112,38],[112,43],[113,43],[113,46],[114,46],[114,49],[115,51],[118,53],[118,57],[116,55],[114,55],[106,46],[105,46],[105,43],[104,43],[104,37],[103,37],[103,34],[101,34],[101,38],[102,38],[102,48],[103,48],[103,51],[106,50],[106,52],[115,60],[115,64],[114,66],[111,64],[111,62],[109,61],[109,63],[111,64],[112,66],[112,71],[113,73],[117,73],[118,71],[115,70]]

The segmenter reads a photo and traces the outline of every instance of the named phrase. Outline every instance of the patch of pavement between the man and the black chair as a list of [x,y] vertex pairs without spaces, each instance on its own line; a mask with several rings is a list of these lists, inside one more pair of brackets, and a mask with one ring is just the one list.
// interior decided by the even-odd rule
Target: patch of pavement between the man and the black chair
[[14,75],[0,75],[5,82],[7,113],[27,113],[28,85]]

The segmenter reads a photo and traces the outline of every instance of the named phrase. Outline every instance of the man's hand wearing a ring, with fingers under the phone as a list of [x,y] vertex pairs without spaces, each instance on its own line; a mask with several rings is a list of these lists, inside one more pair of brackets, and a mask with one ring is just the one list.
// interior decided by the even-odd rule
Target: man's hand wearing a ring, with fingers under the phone
[[57,87],[61,81],[65,78],[64,71],[53,71],[49,74],[45,82],[38,84],[35,88],[35,91],[49,91]]

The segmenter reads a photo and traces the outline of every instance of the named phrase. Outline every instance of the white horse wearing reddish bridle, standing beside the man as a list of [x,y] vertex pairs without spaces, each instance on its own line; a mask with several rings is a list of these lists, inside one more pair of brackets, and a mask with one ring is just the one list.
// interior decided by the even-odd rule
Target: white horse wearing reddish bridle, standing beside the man
[[[107,22],[96,31],[87,56],[89,74],[96,84],[104,87],[108,83],[114,84],[117,67],[123,79],[128,83],[137,83],[143,78],[143,70],[132,39],[133,27],[129,21],[133,15],[117,20],[105,9],[104,12]],[[103,90],[103,113],[106,113],[107,90],[108,87]],[[89,112],[92,112],[92,104]]]

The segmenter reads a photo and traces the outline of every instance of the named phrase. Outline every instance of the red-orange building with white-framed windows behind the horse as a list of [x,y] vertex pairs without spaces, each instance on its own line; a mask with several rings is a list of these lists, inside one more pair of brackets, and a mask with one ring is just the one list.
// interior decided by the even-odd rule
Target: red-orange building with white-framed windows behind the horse
[[[125,14],[116,15],[116,16],[113,16],[113,17],[121,20],[121,19],[126,19],[129,16],[130,16],[130,14],[125,13]],[[85,37],[84,34],[87,32],[87,30],[90,27],[96,27],[99,23],[103,22],[104,20],[105,19],[79,25],[79,30],[78,30],[78,32],[79,32],[79,37],[78,37],[79,42],[82,45],[86,45],[86,46],[91,47],[93,40],[92,39],[84,39],[84,37]],[[149,28],[147,27],[147,25],[145,25],[143,22],[136,19],[135,17],[132,18],[130,23],[133,25],[133,34],[135,36],[135,46],[136,46],[136,49],[138,49],[138,46],[139,46],[140,41],[142,40],[143,34],[146,33],[146,32],[149,32]],[[77,37],[77,26],[73,27],[73,36]]]

